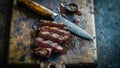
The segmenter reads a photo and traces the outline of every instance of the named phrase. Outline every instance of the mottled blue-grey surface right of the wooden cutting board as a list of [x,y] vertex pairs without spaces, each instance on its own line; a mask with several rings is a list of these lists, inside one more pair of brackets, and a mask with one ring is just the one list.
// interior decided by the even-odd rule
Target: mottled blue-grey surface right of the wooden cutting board
[[120,0],[95,0],[98,68],[120,68]]

